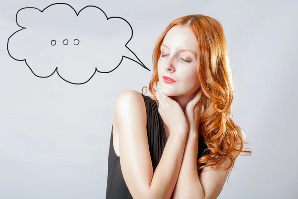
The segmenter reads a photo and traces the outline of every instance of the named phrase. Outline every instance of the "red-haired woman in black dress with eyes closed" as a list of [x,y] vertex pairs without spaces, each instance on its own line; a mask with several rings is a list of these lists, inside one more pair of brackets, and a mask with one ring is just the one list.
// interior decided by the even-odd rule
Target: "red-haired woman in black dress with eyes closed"
[[240,152],[251,154],[229,118],[222,26],[204,15],[174,20],[157,41],[153,67],[153,96],[128,90],[115,102],[106,198],[215,199]]

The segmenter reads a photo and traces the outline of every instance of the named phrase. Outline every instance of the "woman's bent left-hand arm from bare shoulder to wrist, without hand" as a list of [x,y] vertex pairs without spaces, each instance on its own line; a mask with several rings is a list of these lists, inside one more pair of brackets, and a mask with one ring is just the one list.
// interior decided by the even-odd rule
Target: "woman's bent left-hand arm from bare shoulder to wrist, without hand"
[[146,131],[146,108],[139,92],[125,91],[116,100],[120,165],[134,199],[169,199],[174,190],[186,142],[186,133],[171,132],[153,173]]

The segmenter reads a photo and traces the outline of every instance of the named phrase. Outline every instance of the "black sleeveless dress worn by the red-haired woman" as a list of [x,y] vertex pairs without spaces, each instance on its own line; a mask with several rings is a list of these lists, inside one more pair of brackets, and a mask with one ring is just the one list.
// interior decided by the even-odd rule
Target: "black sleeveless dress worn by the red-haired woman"
[[[167,142],[167,137],[165,129],[163,126],[162,118],[158,112],[158,106],[155,100],[151,99],[149,96],[143,95],[146,115],[147,115],[147,138],[149,144],[149,151],[151,155],[151,161],[153,166],[153,171],[155,171],[164,150],[165,144]],[[113,132],[113,125],[112,125]],[[207,146],[203,140],[203,137],[199,138],[199,150],[198,158],[210,153],[207,149],[204,153],[203,151],[207,149]],[[120,159],[116,155],[113,147],[113,133],[111,133],[110,138],[110,149],[108,156],[108,180],[106,189],[106,199],[133,199],[131,196],[120,167]]]

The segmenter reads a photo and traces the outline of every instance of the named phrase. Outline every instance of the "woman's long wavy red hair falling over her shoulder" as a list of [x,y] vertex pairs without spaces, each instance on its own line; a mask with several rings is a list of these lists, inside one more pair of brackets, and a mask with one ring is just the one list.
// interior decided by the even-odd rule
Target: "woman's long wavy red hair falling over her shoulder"
[[[243,150],[246,143],[241,137],[243,129],[229,117],[234,87],[227,44],[221,24],[214,18],[201,14],[182,16],[171,22],[158,39],[153,51],[153,75],[149,90],[156,99],[156,90],[153,86],[156,86],[158,82],[157,63],[161,53],[160,46],[167,32],[175,25],[191,28],[198,41],[197,72],[204,93],[202,97],[205,101],[204,107],[206,107],[206,98],[210,99],[210,106],[202,114],[199,127],[210,154],[198,159],[198,171],[207,166],[228,170],[234,166],[241,152],[251,155],[251,150]],[[142,88],[142,93],[144,88],[147,87]],[[158,104],[158,101],[156,102]],[[226,158],[230,159],[230,164],[225,168],[220,168]]]

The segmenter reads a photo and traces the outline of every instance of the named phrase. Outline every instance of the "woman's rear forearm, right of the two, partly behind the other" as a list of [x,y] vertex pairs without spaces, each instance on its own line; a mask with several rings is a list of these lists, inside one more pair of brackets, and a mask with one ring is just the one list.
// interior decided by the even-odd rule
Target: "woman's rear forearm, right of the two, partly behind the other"
[[188,133],[182,165],[172,199],[204,199],[197,171],[198,134]]

